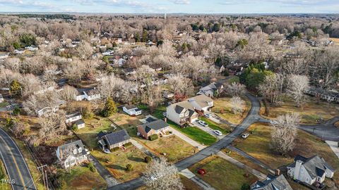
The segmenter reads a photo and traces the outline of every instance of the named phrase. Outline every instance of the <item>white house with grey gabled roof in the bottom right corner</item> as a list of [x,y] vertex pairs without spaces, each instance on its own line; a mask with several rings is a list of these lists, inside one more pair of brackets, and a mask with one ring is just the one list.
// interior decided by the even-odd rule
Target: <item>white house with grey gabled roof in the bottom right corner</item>
[[287,175],[309,185],[323,183],[325,177],[332,178],[334,168],[318,155],[311,158],[296,156],[295,162],[287,166]]

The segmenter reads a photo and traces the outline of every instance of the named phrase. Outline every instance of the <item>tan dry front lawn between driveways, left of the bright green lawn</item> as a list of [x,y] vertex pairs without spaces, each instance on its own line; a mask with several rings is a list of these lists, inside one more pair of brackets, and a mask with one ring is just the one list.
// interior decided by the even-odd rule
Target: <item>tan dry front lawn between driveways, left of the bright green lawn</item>
[[135,139],[157,156],[166,153],[165,157],[172,163],[176,163],[183,158],[193,155],[195,151],[198,152],[198,149],[191,146],[191,144],[186,143],[186,141],[180,139],[174,134],[168,137],[159,137],[159,139],[156,139],[155,141],[149,141],[141,138]]

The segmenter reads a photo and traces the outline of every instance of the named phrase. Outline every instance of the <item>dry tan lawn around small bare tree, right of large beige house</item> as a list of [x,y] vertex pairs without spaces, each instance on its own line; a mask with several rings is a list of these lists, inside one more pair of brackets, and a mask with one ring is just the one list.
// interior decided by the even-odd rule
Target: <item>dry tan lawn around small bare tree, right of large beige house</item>
[[244,105],[244,113],[242,115],[235,115],[232,112],[231,100],[230,97],[221,97],[218,99],[214,99],[214,107],[212,111],[217,114],[220,118],[223,118],[234,125],[238,125],[239,123],[246,118],[247,113],[249,113],[249,109],[251,108],[251,101],[246,97],[242,97],[244,101],[246,101],[246,105]]

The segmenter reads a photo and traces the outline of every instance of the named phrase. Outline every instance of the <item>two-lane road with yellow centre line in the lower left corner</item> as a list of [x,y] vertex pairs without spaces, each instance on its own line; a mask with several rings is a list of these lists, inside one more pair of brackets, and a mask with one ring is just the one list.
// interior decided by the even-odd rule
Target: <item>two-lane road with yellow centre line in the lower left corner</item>
[[[13,190],[37,189],[18,146],[2,129],[0,129],[0,156],[4,161],[8,176],[13,182],[11,184]],[[2,182],[0,181],[0,183]]]

